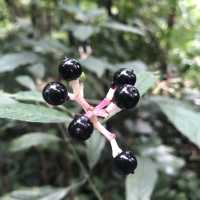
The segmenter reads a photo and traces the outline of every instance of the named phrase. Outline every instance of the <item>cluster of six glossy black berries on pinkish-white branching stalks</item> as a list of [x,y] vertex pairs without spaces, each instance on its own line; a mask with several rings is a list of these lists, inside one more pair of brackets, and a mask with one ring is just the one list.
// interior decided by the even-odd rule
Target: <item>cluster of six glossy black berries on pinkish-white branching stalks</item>
[[106,97],[96,106],[90,105],[84,98],[83,83],[80,81],[82,67],[78,61],[65,58],[58,67],[60,77],[69,82],[72,93],[60,82],[50,82],[43,89],[43,98],[53,106],[61,105],[69,100],[76,101],[84,110],[84,114],[74,117],[68,126],[69,135],[79,141],[87,140],[96,128],[110,142],[115,169],[124,175],[134,173],[137,160],[133,152],[122,151],[116,142],[116,135],[109,132],[99,118],[108,118],[122,109],[134,108],[140,98],[134,87],[136,75],[133,70],[120,69],[113,77],[112,87]]

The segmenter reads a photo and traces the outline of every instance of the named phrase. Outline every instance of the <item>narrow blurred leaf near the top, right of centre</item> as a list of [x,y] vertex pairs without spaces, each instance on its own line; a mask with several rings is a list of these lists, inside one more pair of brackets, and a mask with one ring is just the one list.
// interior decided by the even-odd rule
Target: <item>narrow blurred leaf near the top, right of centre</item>
[[119,22],[108,22],[106,24],[103,24],[104,27],[117,30],[117,31],[122,31],[122,32],[129,32],[129,33],[134,33],[136,35],[141,35],[144,36],[144,32],[139,29],[138,27],[133,27],[127,24],[122,24]]

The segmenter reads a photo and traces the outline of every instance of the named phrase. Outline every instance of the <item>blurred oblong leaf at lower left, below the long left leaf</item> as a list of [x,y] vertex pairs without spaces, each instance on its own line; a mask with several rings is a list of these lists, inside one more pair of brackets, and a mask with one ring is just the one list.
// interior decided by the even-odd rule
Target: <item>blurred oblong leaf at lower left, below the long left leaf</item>
[[9,151],[17,152],[29,149],[33,146],[46,146],[52,143],[57,143],[60,138],[47,133],[27,133],[12,140],[9,144]]

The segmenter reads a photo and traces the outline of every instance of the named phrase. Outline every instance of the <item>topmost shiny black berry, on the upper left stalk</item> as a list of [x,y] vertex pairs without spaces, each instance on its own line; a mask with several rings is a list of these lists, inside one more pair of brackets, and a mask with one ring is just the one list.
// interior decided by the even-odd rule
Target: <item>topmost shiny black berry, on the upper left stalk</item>
[[66,81],[76,80],[81,76],[82,67],[80,63],[71,58],[65,58],[59,65],[59,74]]

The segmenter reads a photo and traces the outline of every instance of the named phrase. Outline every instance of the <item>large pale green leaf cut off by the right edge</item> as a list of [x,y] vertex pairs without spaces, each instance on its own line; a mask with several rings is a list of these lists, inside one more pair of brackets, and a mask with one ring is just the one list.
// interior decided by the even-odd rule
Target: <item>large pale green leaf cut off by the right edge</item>
[[152,100],[183,135],[200,147],[199,112],[179,100],[168,97],[154,97]]

